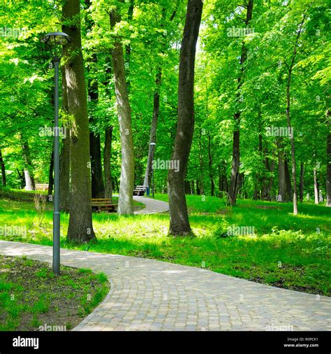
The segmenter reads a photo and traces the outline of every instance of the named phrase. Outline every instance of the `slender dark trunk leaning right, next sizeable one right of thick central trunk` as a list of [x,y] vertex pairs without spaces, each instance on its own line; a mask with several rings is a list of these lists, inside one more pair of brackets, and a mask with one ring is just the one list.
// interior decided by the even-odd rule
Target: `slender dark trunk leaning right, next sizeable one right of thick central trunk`
[[[247,3],[247,13],[246,13],[246,20],[245,24],[246,27],[249,25],[253,15],[253,0],[249,0]],[[237,79],[237,104],[240,103],[240,89],[242,84],[244,83],[244,62],[247,60],[247,46],[245,45],[244,41],[242,42],[242,54],[240,57],[240,66],[241,66],[241,74],[240,77]],[[233,129],[233,160],[232,160],[232,167],[231,167],[231,180],[230,180],[230,204],[235,205],[237,201],[237,183],[238,183],[238,174],[239,174],[239,167],[240,167],[240,116],[241,112],[237,111],[234,115],[234,129]]]

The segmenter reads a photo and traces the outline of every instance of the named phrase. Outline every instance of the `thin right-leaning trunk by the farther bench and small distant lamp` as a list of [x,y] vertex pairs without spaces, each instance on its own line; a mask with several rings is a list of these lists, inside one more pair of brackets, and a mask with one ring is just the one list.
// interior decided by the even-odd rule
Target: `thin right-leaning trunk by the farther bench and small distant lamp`
[[146,186],[151,185],[151,178],[152,178],[152,163],[154,160],[155,145],[150,145],[150,144],[156,143],[156,128],[157,128],[157,122],[159,120],[159,112],[160,112],[161,78],[162,78],[162,71],[161,68],[159,68],[156,73],[156,80],[155,80],[156,88],[154,92],[154,101],[153,101],[153,118],[152,118],[151,131],[149,133],[149,149],[148,149],[147,167],[146,167],[145,179],[144,179],[144,185]]

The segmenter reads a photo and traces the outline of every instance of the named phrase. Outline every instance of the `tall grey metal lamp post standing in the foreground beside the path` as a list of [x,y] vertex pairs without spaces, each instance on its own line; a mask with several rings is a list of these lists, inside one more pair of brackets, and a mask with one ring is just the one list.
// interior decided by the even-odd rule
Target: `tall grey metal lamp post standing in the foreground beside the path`
[[60,153],[59,153],[59,62],[62,46],[71,41],[63,32],[50,32],[41,41],[50,49],[55,71],[54,87],[54,212],[53,212],[53,271],[60,274]]

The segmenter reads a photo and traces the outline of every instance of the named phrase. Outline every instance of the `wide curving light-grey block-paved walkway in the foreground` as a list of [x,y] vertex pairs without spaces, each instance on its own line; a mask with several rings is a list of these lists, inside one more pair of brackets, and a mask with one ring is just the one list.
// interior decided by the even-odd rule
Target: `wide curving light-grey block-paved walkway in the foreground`
[[[50,262],[52,248],[0,241],[0,254]],[[331,298],[206,269],[61,250],[67,266],[103,271],[111,290],[74,330],[331,330]]]

